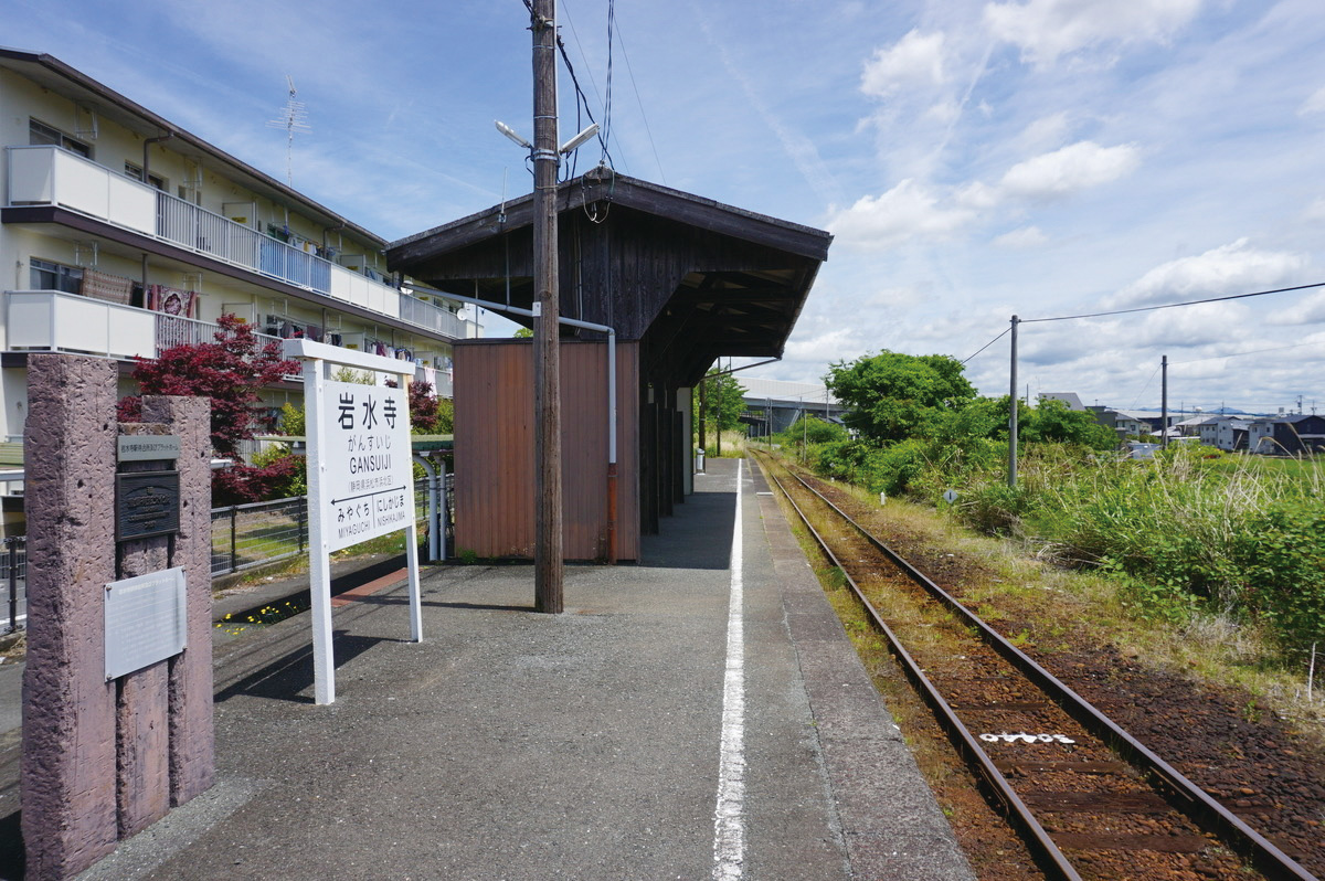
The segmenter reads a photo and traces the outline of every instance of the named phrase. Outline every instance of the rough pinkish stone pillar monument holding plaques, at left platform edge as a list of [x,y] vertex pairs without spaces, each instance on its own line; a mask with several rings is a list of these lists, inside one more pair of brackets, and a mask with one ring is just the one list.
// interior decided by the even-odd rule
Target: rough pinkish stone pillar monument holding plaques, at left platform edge
[[[28,665],[23,833],[26,877],[66,878],[211,786],[211,470],[208,405],[147,397],[115,421],[114,362],[32,355],[24,466]],[[119,470],[179,470],[174,534],[117,543],[117,436],[175,435],[180,457]],[[180,566],[186,649],[107,681],[106,584]]]

